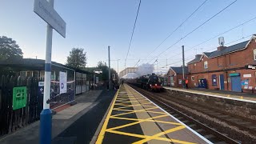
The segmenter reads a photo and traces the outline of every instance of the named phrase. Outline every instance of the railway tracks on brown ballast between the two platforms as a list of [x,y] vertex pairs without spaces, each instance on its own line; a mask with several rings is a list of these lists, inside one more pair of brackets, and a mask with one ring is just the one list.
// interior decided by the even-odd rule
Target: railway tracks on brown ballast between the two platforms
[[[168,113],[172,114],[175,118],[178,118],[181,122],[190,126],[191,129],[202,134],[205,138],[209,139],[213,143],[256,143],[254,138],[250,136],[241,136],[243,134],[238,134],[238,131],[230,131],[226,129],[223,131],[223,126],[216,126],[214,122],[208,119],[203,119],[198,117],[196,114],[191,113],[191,111],[196,110],[199,113],[207,115],[218,122],[225,122],[230,126],[237,127],[238,130],[246,132],[246,134],[254,135],[254,122],[251,120],[245,120],[234,114],[226,114],[222,111],[212,110],[209,107],[201,106],[200,104],[195,104],[193,102],[187,102],[182,100],[182,98],[172,98],[167,93],[152,93],[147,90],[142,90],[136,86],[132,86],[135,90],[145,95],[151,101],[155,102],[162,109],[166,110]],[[176,103],[176,104],[174,104]],[[189,109],[189,110],[188,110]],[[218,123],[217,122],[217,123]]]

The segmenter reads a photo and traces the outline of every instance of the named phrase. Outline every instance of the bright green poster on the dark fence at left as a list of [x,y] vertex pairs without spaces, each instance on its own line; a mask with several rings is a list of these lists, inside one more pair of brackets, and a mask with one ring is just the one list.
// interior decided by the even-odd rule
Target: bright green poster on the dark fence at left
[[14,87],[13,90],[13,110],[26,107],[26,86]]

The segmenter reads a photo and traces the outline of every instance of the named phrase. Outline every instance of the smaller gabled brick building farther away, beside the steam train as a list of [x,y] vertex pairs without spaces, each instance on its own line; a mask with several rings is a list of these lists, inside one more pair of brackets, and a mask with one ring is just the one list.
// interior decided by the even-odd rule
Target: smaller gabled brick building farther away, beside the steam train
[[[185,67],[185,78],[188,76],[188,69]],[[167,72],[168,76],[168,86],[171,87],[180,87],[182,88],[182,66],[175,67],[175,66],[170,66],[170,70]]]

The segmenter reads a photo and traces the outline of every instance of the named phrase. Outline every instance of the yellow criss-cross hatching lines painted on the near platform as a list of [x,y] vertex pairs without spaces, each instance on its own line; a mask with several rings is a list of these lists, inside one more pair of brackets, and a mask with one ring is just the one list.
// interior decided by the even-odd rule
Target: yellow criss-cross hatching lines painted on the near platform
[[[160,141],[166,141],[166,142],[192,144],[192,142],[185,142],[185,141],[181,141],[181,140],[177,140],[177,139],[173,139],[173,138],[162,138],[161,137],[162,135],[169,134],[174,131],[182,130],[182,129],[186,128],[186,126],[183,126],[181,123],[178,123],[178,122],[166,122],[166,121],[157,120],[157,118],[164,118],[169,115],[166,113],[163,113],[163,112],[151,111],[154,109],[158,109],[158,107],[152,105],[152,103],[150,101],[148,101],[146,98],[143,98],[141,95],[133,94],[130,92],[130,90],[127,93],[122,93],[122,91],[119,92],[119,90],[118,90],[117,94],[115,95],[114,102],[113,102],[112,106],[110,107],[109,113],[106,116],[106,120],[102,126],[102,130],[101,130],[100,134],[98,135],[98,139],[97,139],[96,143],[102,143],[105,133],[109,132],[109,133],[113,133],[113,134],[122,134],[122,135],[131,136],[131,137],[142,138],[142,140],[140,140],[138,142],[134,142],[136,144],[149,142],[150,140],[160,140]],[[135,98],[134,96],[136,96],[137,98]],[[138,104],[130,105],[129,103],[131,103],[131,102],[138,102]],[[120,106],[120,107],[114,108],[114,106]],[[134,106],[143,106],[144,108],[146,107],[146,109],[124,110],[125,108],[134,107]],[[120,110],[125,113],[111,115],[113,110]],[[126,114],[134,114],[134,113],[136,114],[136,113],[140,113],[140,112],[154,113],[154,114],[160,114],[160,115],[151,117],[151,118],[146,118],[146,119],[119,117],[119,116],[126,115]],[[134,122],[130,122],[130,123],[122,125],[122,126],[116,126],[116,127],[111,127],[111,128],[107,129],[107,125],[108,125],[110,118],[120,119],[120,120],[128,120],[128,121],[134,121]],[[172,128],[170,130],[163,131],[158,134],[154,134],[152,136],[141,135],[141,134],[131,134],[131,133],[118,131],[118,129],[125,128],[128,126],[134,126],[141,122],[161,122],[161,123],[170,124],[170,125],[176,126],[176,127]]]

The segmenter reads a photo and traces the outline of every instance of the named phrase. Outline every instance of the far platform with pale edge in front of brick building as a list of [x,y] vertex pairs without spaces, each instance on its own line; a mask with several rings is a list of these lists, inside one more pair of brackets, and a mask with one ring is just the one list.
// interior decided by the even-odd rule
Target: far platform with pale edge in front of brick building
[[250,102],[256,103],[256,95],[255,94],[248,94],[248,93],[238,93],[232,91],[224,91],[224,90],[201,90],[201,89],[181,89],[181,88],[174,88],[169,86],[164,86],[166,90],[174,90],[180,92],[186,92],[190,94],[200,94],[206,95],[215,98],[224,98],[224,99],[231,99],[241,102]]

